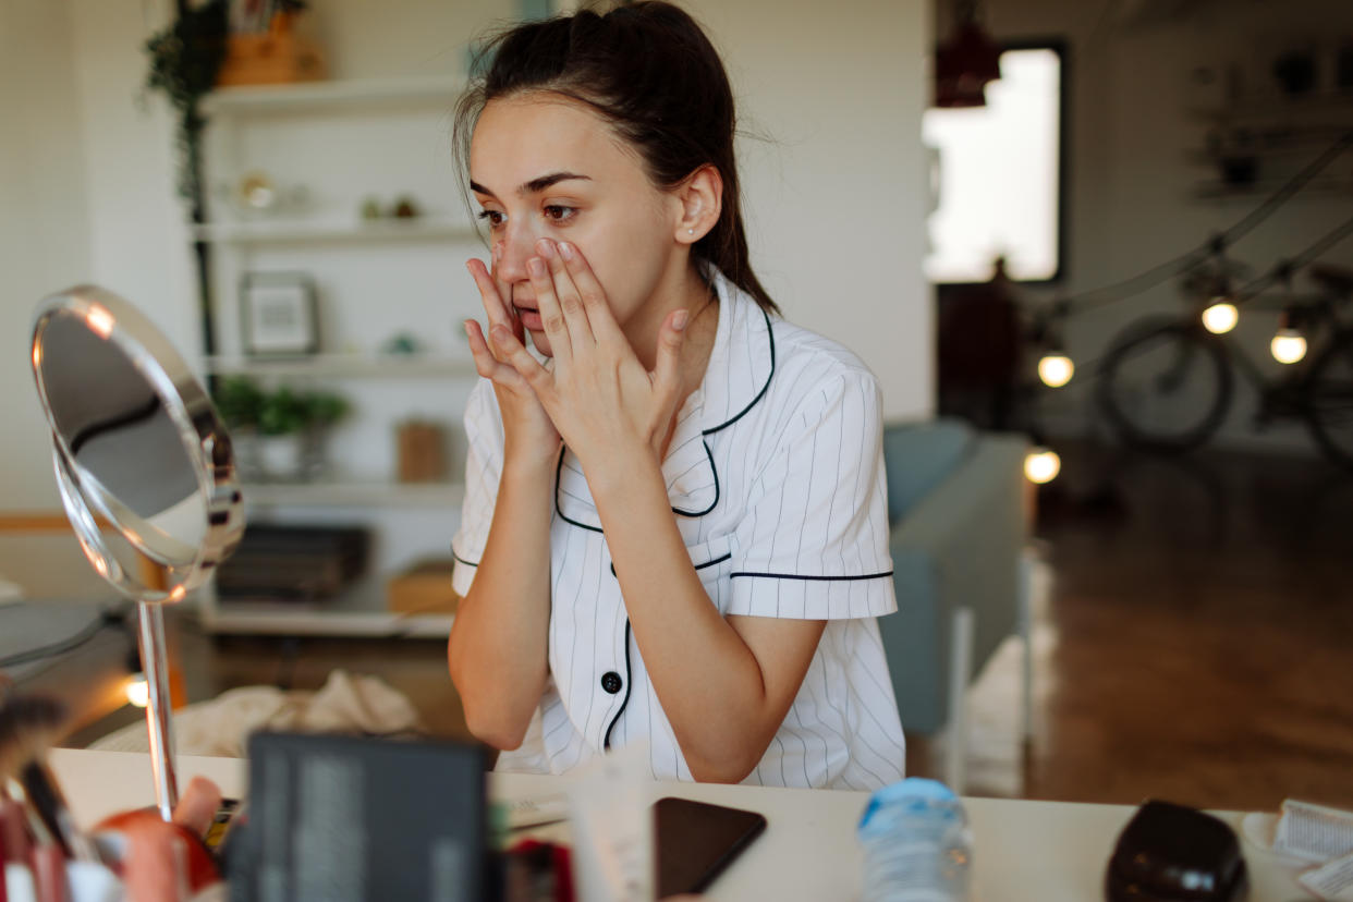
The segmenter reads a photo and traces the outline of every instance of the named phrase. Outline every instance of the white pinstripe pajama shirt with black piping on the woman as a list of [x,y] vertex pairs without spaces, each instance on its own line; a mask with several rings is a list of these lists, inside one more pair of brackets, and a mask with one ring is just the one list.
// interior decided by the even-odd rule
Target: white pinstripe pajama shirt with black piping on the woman
[[[785,722],[744,782],[885,786],[902,778],[905,755],[874,619],[897,609],[878,383],[840,345],[766,315],[723,276],[714,287],[709,366],[678,414],[662,467],[676,525],[725,617],[827,621]],[[487,380],[471,395],[465,431],[465,502],[452,542],[461,595],[475,577],[502,473],[502,419]],[[525,741],[499,756],[498,769],[560,774],[609,746],[647,741],[656,779],[690,780],[632,636],[582,467],[567,448],[549,554],[551,676]]]

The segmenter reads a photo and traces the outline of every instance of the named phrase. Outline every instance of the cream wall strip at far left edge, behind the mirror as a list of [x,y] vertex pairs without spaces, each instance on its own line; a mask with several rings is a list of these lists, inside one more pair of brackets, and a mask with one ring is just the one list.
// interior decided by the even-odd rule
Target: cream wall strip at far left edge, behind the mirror
[[38,300],[89,273],[83,123],[65,3],[0,4],[0,508],[51,510],[28,364]]

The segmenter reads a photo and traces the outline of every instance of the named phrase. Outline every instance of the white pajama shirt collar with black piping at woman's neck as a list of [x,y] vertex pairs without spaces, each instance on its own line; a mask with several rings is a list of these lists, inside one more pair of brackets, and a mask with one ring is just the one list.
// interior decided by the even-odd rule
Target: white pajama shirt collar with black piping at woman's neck
[[[766,394],[775,371],[770,316],[721,272],[713,266],[705,272],[718,298],[714,346],[704,379],[676,417],[662,468],[668,503],[682,517],[702,517],[714,510],[720,480],[705,437],[751,410]],[[601,530],[582,467],[567,448],[560,452],[555,507],[567,522]]]

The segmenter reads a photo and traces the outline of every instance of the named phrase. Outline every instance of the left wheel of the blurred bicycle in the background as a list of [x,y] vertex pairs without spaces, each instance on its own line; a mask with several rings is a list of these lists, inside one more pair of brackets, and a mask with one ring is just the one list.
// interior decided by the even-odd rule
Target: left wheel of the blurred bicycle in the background
[[1183,452],[1216,431],[1233,389],[1220,341],[1189,321],[1149,319],[1114,342],[1096,399],[1126,444]]

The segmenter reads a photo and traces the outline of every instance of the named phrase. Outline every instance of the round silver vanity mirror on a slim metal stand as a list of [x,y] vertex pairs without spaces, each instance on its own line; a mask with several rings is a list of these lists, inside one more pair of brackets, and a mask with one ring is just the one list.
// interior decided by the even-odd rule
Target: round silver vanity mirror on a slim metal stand
[[139,603],[161,814],[176,802],[161,604],[183,600],[244,533],[230,437],[169,341],[89,285],[38,307],[32,371],[57,484],[85,556]]

